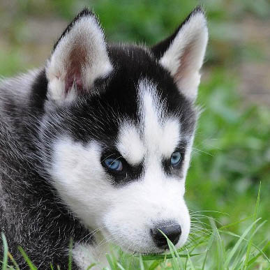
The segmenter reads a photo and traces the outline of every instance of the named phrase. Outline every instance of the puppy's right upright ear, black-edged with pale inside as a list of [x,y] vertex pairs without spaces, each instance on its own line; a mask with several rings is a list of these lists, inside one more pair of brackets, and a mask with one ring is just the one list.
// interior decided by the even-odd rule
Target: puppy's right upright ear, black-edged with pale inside
[[152,47],[153,54],[170,72],[179,91],[191,101],[197,96],[207,40],[207,20],[202,8],[197,7],[172,36]]

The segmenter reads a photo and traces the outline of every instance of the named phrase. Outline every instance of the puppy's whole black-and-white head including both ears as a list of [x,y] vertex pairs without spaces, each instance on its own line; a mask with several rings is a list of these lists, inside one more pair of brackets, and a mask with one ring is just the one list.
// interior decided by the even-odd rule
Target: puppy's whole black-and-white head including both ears
[[83,10],[47,61],[43,162],[61,200],[124,250],[158,253],[188,238],[183,199],[207,46],[196,8],[153,47],[105,43]]

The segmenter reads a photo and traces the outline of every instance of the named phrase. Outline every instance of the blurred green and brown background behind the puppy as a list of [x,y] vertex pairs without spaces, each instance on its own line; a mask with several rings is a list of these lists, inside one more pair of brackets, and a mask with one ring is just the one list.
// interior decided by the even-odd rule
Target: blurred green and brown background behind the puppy
[[[172,33],[195,0],[0,0],[0,75],[38,67],[84,6],[93,8],[107,40],[153,45]],[[270,2],[202,1],[209,47],[197,103],[197,128],[186,198],[193,210],[226,225],[250,216],[262,182],[260,217],[270,213]],[[251,220],[250,220],[251,223]],[[245,225],[246,226],[246,225]],[[269,225],[257,234],[270,237]],[[231,230],[241,233],[241,223]]]

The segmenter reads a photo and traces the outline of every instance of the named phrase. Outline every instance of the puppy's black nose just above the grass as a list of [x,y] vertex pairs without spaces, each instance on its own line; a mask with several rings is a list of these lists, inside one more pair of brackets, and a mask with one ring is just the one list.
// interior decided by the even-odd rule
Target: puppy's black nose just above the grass
[[175,245],[181,236],[181,226],[177,223],[160,223],[155,228],[150,229],[151,237],[158,248],[168,248],[166,237],[159,231],[166,234],[167,238]]

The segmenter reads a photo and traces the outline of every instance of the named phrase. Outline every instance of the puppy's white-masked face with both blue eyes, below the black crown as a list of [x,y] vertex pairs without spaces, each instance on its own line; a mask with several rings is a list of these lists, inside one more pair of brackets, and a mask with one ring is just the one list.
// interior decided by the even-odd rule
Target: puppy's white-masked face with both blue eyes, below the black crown
[[[99,132],[86,142],[68,134],[55,140],[50,175],[84,224],[101,227],[106,239],[125,250],[153,253],[166,247],[153,237],[157,228],[170,234],[170,227],[181,227],[172,238],[177,246],[188,237],[190,218],[183,195],[194,123],[187,129],[177,113],[167,112],[168,104],[148,80],[137,84],[137,95],[137,121],[119,112],[113,120],[118,123],[115,137]],[[116,117],[110,110],[105,113]],[[189,113],[188,121],[195,121],[193,111]],[[110,125],[98,119],[102,126]],[[91,128],[93,123],[85,120],[84,125]]]

